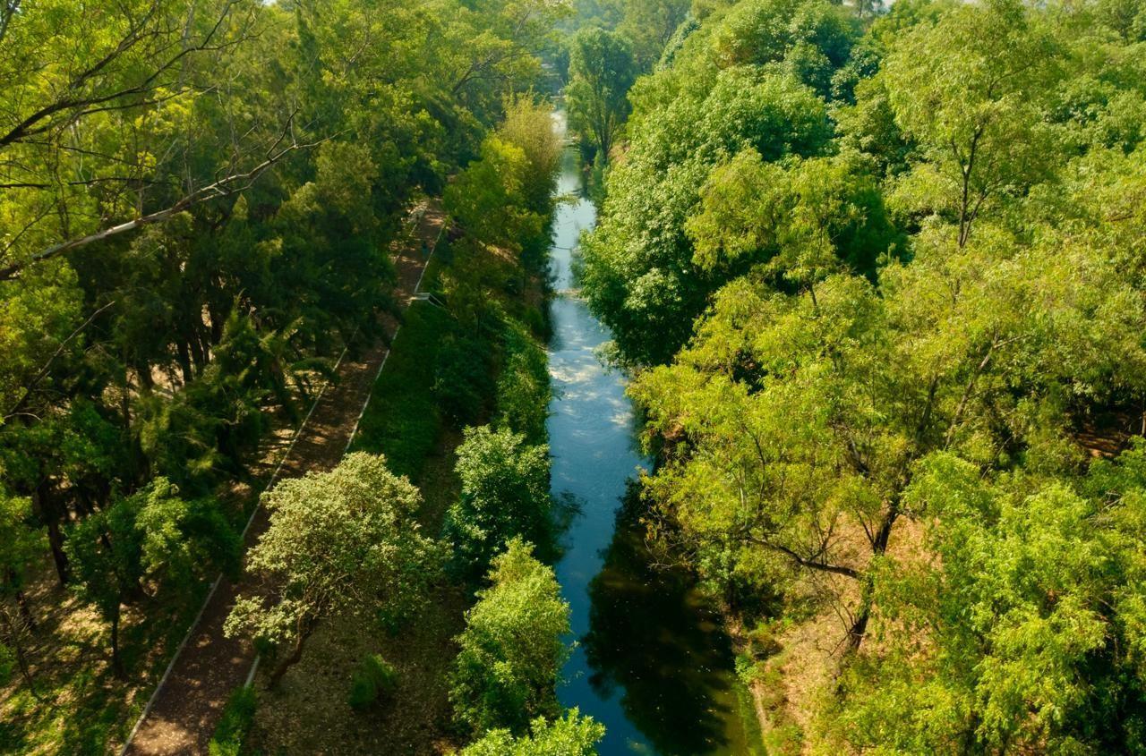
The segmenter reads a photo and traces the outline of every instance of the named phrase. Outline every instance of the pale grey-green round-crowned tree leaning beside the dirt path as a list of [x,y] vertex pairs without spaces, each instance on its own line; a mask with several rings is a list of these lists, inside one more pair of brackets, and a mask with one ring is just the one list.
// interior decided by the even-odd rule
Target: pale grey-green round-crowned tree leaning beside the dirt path
[[398,622],[417,608],[442,560],[441,548],[414,519],[421,503],[407,479],[367,454],[264,494],[270,526],[248,553],[246,568],[266,598],[241,597],[226,632],[289,647],[270,685],[303,657],[322,620],[383,613]]

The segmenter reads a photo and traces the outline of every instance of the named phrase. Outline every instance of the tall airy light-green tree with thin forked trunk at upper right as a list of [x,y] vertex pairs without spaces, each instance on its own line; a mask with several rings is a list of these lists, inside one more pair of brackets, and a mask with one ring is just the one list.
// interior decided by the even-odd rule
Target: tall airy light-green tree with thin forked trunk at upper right
[[960,5],[904,34],[884,63],[896,123],[926,157],[903,202],[951,212],[959,246],[990,202],[1021,196],[1053,165],[1044,97],[1062,54],[1039,24],[1014,0]]

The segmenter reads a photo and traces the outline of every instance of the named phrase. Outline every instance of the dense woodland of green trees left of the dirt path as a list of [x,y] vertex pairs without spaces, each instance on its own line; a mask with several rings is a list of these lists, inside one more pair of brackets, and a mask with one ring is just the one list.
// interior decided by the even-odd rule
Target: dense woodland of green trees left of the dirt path
[[[542,166],[511,176],[515,198],[544,214],[555,151],[535,129],[548,111],[524,93],[544,78],[537,54],[567,6],[0,2],[0,489],[33,502],[29,530],[46,533],[62,583],[74,526],[85,599],[110,607],[132,584],[113,567],[146,573],[127,597],[133,640],[174,647],[150,628],[167,627],[159,613],[190,619],[175,612],[209,561],[186,582],[182,542],[223,531],[209,497],[257,482],[272,426],[301,419],[343,348],[379,338],[410,204],[439,196],[504,120],[499,139]],[[454,326],[425,330],[435,349]],[[367,418],[402,472],[439,430],[435,400],[422,401],[427,364],[407,364],[399,378],[417,380],[379,391],[384,419]],[[121,499],[164,481],[186,512],[149,504],[155,520],[133,525]],[[162,549],[171,560],[147,564]],[[78,643],[81,624],[53,640]],[[102,748],[134,688],[103,685],[84,660],[33,661],[74,672],[52,691],[74,706],[22,711],[11,729],[6,710],[0,739]]]

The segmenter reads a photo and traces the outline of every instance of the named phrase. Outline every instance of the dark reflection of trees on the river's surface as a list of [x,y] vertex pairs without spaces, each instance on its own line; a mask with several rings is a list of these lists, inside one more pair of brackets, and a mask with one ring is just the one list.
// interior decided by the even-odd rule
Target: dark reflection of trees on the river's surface
[[605,696],[620,686],[626,716],[665,756],[709,754],[727,745],[728,637],[688,573],[650,565],[637,507],[626,504],[589,585],[590,683]]

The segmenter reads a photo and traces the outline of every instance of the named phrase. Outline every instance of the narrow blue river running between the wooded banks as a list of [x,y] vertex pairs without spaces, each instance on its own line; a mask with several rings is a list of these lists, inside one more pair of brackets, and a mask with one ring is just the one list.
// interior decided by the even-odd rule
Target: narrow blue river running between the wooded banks
[[[560,116],[556,127],[564,133]],[[646,460],[635,442],[625,377],[596,354],[609,332],[574,290],[574,251],[596,208],[573,149],[558,191],[576,199],[558,207],[554,228],[549,438],[554,494],[578,510],[556,566],[578,643],[558,698],[606,726],[602,756],[762,753],[745,732],[746,695],[731,672],[719,616],[686,574],[649,564],[635,507],[625,505],[629,481]]]

